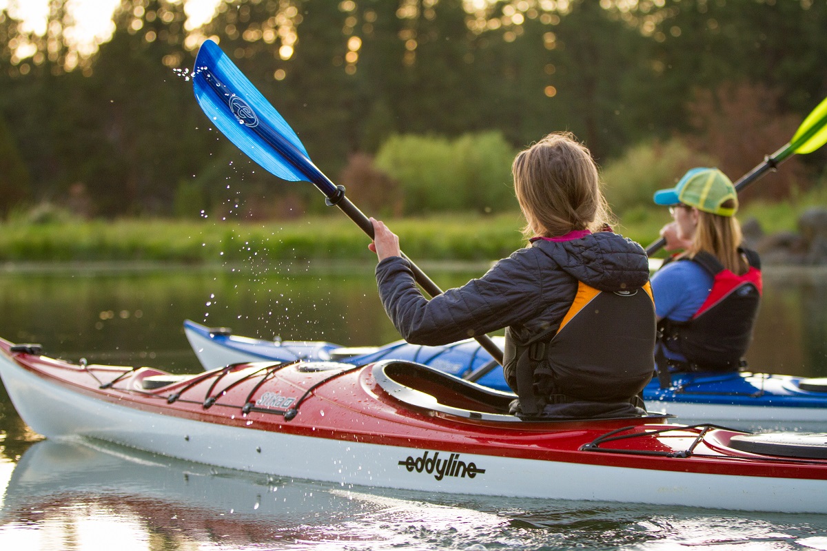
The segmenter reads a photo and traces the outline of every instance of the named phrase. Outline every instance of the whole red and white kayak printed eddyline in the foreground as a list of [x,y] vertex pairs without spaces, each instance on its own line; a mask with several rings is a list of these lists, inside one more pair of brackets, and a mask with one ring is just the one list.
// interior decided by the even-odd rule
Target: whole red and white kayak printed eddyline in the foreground
[[189,376],[0,340],[23,420],[55,439],[344,486],[827,513],[827,435],[664,416],[525,420],[512,395],[405,361],[242,363]]

